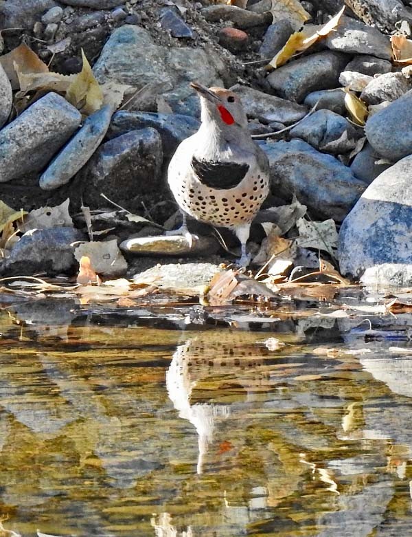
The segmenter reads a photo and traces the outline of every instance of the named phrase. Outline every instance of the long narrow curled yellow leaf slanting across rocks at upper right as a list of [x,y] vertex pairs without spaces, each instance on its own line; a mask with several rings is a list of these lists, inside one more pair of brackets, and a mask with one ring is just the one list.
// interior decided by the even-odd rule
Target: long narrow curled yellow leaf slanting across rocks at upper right
[[319,38],[327,36],[338,25],[344,10],[345,6],[324,25],[306,25],[301,32],[292,34],[269,65],[276,69],[276,67],[284,65],[293,54],[303,52],[316,43]]

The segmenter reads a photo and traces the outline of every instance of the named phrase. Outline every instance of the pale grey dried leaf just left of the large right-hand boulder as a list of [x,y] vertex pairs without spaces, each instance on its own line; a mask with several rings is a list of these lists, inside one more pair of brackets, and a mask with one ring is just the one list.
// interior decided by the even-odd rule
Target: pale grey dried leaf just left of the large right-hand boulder
[[338,232],[332,219],[323,222],[308,221],[301,218],[297,221],[299,237],[296,239],[302,248],[315,248],[336,256],[338,248]]

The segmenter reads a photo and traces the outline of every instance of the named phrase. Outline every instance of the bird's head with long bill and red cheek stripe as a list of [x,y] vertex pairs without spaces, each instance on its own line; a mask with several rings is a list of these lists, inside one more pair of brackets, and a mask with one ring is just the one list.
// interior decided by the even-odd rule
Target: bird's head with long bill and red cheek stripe
[[207,88],[198,82],[190,83],[197,91],[202,105],[202,121],[215,121],[221,129],[247,127],[247,117],[238,95],[222,87]]

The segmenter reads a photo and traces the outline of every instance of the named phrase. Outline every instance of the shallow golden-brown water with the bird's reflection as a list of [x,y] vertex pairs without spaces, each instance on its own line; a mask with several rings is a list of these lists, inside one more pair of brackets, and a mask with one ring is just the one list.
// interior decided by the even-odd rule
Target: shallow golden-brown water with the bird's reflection
[[0,313],[5,528],[412,534],[409,314],[16,310]]

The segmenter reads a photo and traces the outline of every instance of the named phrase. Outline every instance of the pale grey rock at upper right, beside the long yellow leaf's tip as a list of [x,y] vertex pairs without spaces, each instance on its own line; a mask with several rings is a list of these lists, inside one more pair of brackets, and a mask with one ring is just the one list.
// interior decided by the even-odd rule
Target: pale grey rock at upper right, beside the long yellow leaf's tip
[[390,60],[392,57],[389,37],[350,17],[341,17],[339,24],[325,38],[330,50],[347,54],[369,54]]

